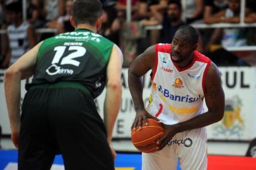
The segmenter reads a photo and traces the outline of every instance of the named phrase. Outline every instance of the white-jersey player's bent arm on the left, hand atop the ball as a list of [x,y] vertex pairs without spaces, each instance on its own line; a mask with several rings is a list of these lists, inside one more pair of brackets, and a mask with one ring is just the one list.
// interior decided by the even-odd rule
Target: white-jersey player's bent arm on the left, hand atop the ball
[[[144,108],[143,103],[143,84],[141,82],[141,76],[144,76],[149,70],[153,71],[155,60],[155,45],[146,49],[143,54],[136,57],[129,67],[128,72],[128,84],[134,101],[134,108],[136,110],[136,117],[132,123],[131,128],[141,128],[143,123],[148,124],[146,118],[151,117],[148,111]],[[156,118],[154,118],[156,119]]]

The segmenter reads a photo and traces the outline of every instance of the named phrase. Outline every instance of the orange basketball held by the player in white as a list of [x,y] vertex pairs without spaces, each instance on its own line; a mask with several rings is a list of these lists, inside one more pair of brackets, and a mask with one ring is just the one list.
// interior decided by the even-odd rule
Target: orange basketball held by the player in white
[[152,118],[148,118],[148,126],[143,125],[141,130],[132,130],[131,140],[132,144],[141,152],[149,153],[155,152],[157,140],[165,135],[165,129]]

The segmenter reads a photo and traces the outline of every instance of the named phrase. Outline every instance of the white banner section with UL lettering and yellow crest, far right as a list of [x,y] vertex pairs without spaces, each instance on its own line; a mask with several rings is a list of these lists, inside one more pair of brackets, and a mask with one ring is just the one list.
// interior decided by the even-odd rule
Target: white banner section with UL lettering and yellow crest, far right
[[221,67],[223,119],[207,127],[208,139],[251,140],[256,136],[256,68]]

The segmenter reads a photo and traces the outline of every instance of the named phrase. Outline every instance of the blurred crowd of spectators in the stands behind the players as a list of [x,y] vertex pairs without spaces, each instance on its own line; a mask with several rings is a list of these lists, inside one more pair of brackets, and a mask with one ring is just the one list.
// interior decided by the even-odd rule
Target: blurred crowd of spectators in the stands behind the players
[[[23,0],[25,1],[25,0]],[[239,23],[240,0],[131,0],[131,19],[126,22],[126,0],[102,0],[104,13],[100,34],[122,48],[125,66],[155,43],[171,43],[177,28],[185,24]],[[0,67],[6,68],[35,43],[55,34],[73,31],[69,23],[73,0],[30,0],[23,21],[22,0],[0,0]],[[245,23],[256,22],[256,3],[246,0]],[[82,10],[82,9],[81,9]],[[159,26],[161,29],[144,29]],[[54,33],[36,33],[38,28],[55,28]],[[255,28],[199,30],[199,52],[218,65],[247,65],[227,47],[255,45]],[[219,55],[219,54],[225,54]]]

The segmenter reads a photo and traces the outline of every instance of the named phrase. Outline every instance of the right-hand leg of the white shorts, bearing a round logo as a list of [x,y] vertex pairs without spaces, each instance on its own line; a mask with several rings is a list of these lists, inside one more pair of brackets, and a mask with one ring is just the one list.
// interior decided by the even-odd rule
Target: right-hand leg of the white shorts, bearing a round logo
[[182,132],[178,146],[178,157],[182,169],[207,169],[207,137],[206,128],[197,128]]

